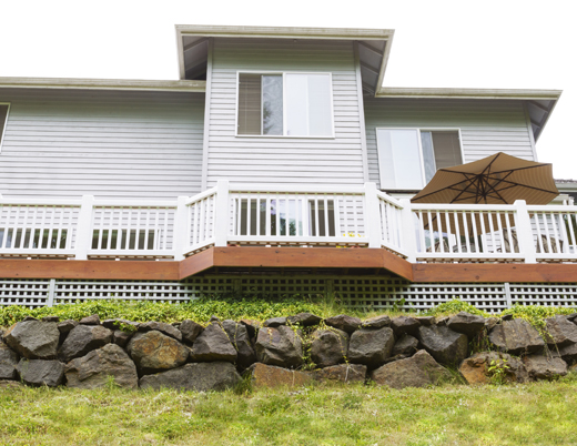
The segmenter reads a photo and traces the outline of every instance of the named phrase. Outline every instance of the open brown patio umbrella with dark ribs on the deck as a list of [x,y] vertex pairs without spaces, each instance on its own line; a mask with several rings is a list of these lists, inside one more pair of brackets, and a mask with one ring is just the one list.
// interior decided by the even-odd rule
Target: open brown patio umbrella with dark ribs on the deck
[[559,194],[553,166],[498,152],[483,160],[439,169],[413,203],[547,204]]

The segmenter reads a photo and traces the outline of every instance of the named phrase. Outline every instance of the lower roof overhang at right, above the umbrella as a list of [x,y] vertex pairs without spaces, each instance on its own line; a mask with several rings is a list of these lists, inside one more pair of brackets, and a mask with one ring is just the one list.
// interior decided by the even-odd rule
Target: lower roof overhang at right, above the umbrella
[[522,100],[527,105],[535,141],[539,138],[553,109],[561,95],[561,90],[527,89],[435,89],[435,88],[381,88],[376,98],[414,99],[508,99]]

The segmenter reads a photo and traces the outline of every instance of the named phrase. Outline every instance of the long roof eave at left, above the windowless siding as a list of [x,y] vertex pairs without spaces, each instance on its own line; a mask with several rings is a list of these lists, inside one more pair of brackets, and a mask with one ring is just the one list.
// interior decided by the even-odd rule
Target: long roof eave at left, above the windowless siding
[[0,89],[149,90],[203,93],[204,81],[148,81],[124,79],[0,78]]

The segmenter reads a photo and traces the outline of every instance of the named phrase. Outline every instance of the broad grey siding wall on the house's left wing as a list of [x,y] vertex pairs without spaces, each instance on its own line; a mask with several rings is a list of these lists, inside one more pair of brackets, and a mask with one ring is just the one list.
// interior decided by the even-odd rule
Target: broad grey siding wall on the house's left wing
[[4,196],[173,199],[201,191],[204,94],[1,90]]

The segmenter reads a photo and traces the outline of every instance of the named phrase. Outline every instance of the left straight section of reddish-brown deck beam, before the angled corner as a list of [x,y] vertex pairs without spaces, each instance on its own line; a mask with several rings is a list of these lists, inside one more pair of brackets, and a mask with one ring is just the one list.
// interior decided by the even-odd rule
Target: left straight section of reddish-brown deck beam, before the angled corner
[[178,262],[0,259],[0,277],[178,281],[180,275]]

